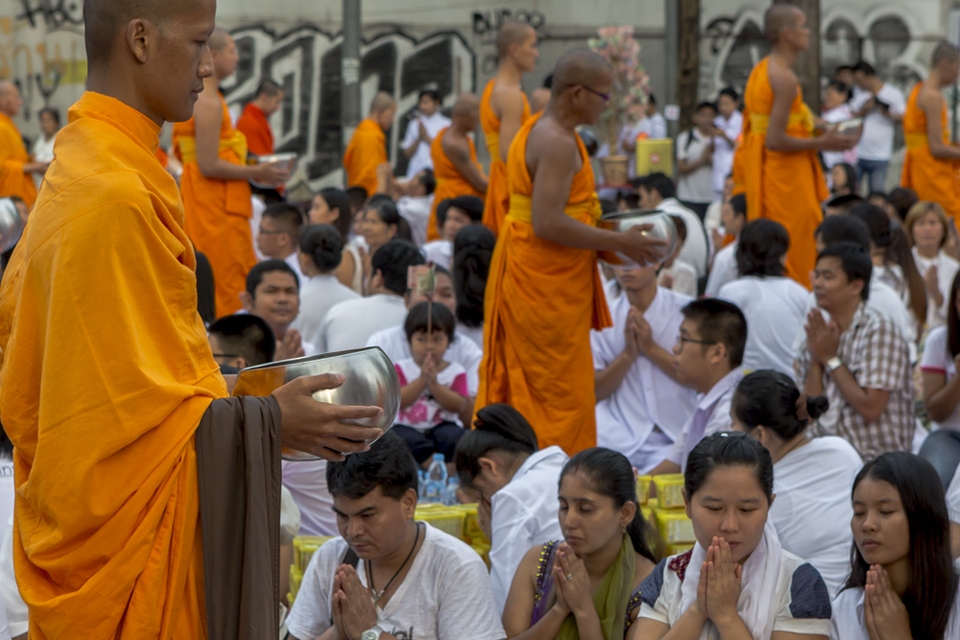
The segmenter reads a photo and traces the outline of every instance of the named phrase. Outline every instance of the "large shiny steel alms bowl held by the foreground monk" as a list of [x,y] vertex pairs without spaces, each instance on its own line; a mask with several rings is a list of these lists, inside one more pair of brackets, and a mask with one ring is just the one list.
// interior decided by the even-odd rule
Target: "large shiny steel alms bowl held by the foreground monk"
[[[393,426],[400,411],[400,380],[393,362],[379,347],[338,351],[271,362],[244,369],[237,375],[235,396],[268,396],[286,383],[303,376],[339,373],[343,384],[313,394],[318,402],[337,405],[377,406],[383,409],[378,419],[358,420],[365,427],[378,427],[384,433]],[[317,460],[317,456],[283,450],[285,460]]]

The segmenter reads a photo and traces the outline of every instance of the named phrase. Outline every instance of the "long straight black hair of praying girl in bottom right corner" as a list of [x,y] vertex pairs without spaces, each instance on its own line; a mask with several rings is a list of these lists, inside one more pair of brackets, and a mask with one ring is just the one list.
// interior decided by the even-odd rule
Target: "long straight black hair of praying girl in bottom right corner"
[[[907,515],[910,584],[902,600],[910,615],[911,634],[914,638],[945,640],[958,577],[950,554],[950,517],[940,476],[923,458],[893,451],[863,466],[853,481],[851,498],[865,478],[893,485]],[[850,552],[850,564],[850,577],[843,588],[865,588],[870,565],[856,543]]]

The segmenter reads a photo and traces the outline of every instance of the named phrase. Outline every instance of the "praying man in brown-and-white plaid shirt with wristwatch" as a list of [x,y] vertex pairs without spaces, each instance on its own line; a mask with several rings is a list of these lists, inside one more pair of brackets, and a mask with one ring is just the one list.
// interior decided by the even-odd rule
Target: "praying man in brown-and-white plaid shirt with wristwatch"
[[827,396],[818,435],[846,439],[864,459],[910,451],[913,386],[907,343],[889,319],[867,306],[873,263],[850,242],[820,252],[812,274],[820,309],[807,315],[806,337],[794,365],[808,397]]

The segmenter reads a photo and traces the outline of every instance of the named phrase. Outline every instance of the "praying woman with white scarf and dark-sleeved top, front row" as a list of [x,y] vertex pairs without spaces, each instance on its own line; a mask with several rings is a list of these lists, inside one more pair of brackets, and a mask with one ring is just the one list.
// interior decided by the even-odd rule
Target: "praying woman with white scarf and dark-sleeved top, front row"
[[627,640],[826,640],[827,587],[781,548],[767,522],[773,499],[773,461],[759,442],[735,432],[701,440],[684,475],[697,544],[644,580]]

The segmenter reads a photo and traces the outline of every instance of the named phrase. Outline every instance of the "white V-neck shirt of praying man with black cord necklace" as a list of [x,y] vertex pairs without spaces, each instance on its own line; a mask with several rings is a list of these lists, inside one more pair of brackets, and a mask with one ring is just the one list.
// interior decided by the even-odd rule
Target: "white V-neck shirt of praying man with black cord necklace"
[[[377,608],[377,625],[395,637],[416,640],[505,638],[480,556],[439,529],[425,523],[420,527],[423,545],[386,606]],[[287,618],[294,636],[316,638],[332,626],[333,574],[346,552],[346,541],[335,538],[313,554]],[[358,569],[366,586],[367,572]]]

